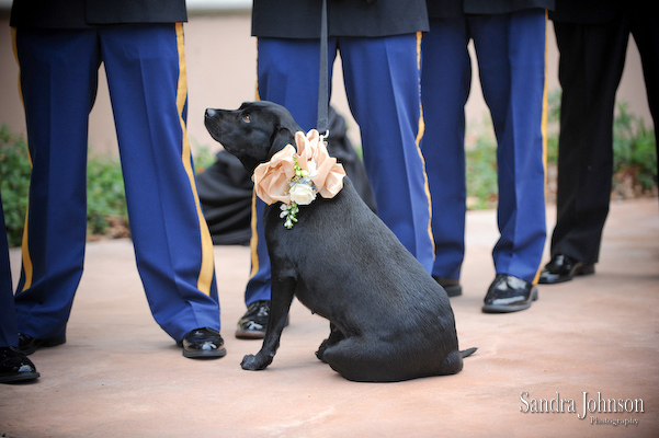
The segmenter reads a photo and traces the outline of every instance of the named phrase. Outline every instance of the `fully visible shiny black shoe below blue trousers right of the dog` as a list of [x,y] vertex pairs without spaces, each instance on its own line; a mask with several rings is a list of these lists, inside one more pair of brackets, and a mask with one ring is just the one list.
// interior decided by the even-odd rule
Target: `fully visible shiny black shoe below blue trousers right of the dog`
[[529,309],[537,300],[537,288],[508,274],[499,274],[485,296],[485,313],[510,313]]

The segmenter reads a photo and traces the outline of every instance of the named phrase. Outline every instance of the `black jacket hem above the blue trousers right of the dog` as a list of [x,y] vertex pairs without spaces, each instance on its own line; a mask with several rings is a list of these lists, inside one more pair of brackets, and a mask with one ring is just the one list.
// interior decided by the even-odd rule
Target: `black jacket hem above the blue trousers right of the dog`
[[428,15],[434,19],[465,14],[496,14],[531,8],[554,9],[554,0],[427,0]]

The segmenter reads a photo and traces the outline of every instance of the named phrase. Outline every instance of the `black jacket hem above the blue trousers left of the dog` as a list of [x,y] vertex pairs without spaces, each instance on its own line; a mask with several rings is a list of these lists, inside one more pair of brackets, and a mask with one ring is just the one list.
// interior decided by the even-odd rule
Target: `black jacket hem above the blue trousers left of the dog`
[[107,24],[188,21],[185,0],[14,0],[10,25],[86,28]]

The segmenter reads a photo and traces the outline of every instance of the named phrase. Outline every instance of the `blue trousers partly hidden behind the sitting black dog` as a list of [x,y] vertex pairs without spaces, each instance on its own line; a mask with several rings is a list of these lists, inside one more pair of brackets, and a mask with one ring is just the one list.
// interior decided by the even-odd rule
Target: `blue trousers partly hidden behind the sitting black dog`
[[[378,216],[430,272],[430,199],[418,146],[419,37],[409,34],[329,38],[329,78],[340,53],[345,93],[360,126],[364,166]],[[305,130],[315,128],[318,117],[319,53],[318,39],[259,39],[259,97],[285,106]],[[263,207],[257,199],[248,306],[270,299],[270,260],[261,224]]]

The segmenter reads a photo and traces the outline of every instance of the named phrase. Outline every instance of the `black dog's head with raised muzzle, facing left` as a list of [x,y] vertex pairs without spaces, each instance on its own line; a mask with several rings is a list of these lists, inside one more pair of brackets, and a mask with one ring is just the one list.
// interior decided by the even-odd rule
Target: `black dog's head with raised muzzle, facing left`
[[246,102],[238,110],[207,108],[206,129],[251,174],[257,165],[294,143],[302,128],[291,113],[272,102]]

